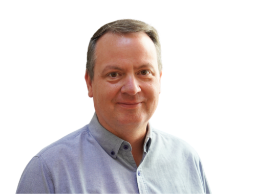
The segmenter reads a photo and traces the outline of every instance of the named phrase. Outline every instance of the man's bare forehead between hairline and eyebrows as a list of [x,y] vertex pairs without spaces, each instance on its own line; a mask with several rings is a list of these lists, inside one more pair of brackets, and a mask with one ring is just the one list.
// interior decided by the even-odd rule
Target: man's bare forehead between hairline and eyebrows
[[144,32],[129,34],[106,33],[99,38],[95,49],[96,64],[118,60],[155,60],[154,42]]

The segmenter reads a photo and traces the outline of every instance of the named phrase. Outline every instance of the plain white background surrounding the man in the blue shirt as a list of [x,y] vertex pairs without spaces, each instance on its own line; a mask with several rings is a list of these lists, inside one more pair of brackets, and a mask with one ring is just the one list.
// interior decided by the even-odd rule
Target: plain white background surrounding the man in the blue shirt
[[42,148],[90,122],[88,43],[124,18],[160,35],[152,125],[195,148],[212,192],[255,192],[255,10],[253,1],[1,1],[1,192],[16,191]]

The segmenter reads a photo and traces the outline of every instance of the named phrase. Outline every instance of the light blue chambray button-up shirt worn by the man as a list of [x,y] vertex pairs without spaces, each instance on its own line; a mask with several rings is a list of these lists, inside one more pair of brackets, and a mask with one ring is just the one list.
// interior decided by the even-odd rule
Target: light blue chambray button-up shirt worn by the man
[[41,150],[16,193],[210,193],[198,154],[183,140],[151,128],[137,167],[129,142],[98,122]]

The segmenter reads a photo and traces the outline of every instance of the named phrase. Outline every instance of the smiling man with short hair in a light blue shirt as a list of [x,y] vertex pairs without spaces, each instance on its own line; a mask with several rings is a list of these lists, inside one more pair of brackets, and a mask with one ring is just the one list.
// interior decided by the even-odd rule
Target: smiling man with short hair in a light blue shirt
[[39,152],[17,193],[209,193],[197,153],[148,123],[161,69],[153,27],[130,19],[101,27],[88,48],[90,124]]

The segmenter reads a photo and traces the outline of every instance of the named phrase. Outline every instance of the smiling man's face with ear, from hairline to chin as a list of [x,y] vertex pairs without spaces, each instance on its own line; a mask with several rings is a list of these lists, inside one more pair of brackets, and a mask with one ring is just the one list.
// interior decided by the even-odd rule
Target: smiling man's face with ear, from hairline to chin
[[86,81],[101,125],[147,123],[157,108],[160,78],[156,48],[145,33],[100,37],[94,79],[87,75]]

